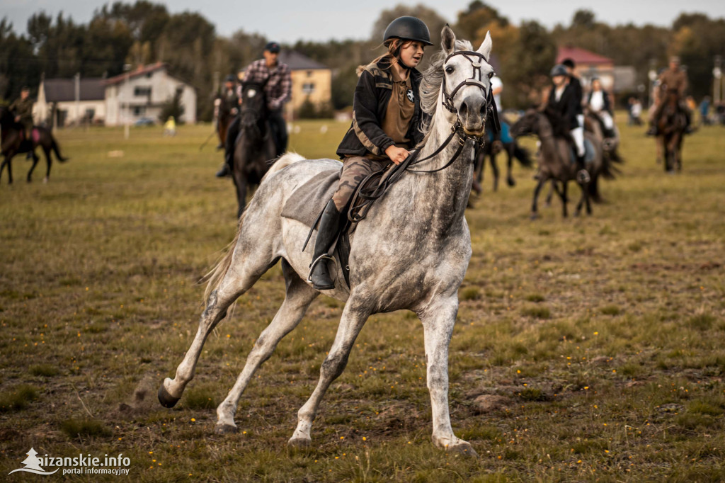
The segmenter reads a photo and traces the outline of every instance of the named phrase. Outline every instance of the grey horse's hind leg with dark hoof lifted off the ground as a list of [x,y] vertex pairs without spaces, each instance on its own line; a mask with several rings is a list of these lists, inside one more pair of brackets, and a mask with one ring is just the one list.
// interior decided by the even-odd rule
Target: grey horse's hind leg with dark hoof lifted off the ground
[[[244,229],[244,228],[242,228]],[[244,248],[254,241],[244,240],[241,236],[231,248],[231,262],[221,278],[218,288],[215,289],[207,300],[207,307],[199,320],[199,329],[196,337],[191,342],[191,347],[186,351],[181,364],[176,368],[174,379],[166,378],[159,388],[159,402],[167,408],[172,408],[183,394],[186,384],[194,378],[196,362],[204,347],[207,337],[217,324],[226,316],[228,307],[241,294],[247,292],[254,283],[268,269],[274,265],[276,260],[260,256],[258,253],[244,252]],[[239,251],[239,253],[238,253]],[[241,259],[241,261],[239,261]]]

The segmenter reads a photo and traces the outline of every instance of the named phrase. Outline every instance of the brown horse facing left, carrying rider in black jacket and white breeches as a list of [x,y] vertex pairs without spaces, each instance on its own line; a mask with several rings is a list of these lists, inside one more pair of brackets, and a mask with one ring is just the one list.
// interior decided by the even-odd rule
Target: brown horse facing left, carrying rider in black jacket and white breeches
[[[541,141],[539,150],[539,171],[537,173],[537,187],[534,189],[534,200],[531,204],[531,219],[538,218],[537,203],[539,192],[547,181],[553,181],[552,186],[562,201],[562,215],[567,216],[566,204],[568,202],[567,186],[569,181],[576,180],[577,167],[573,162],[572,147],[564,136],[556,136],[554,128],[548,115],[542,111],[529,110],[516,123],[511,126],[511,135],[514,137],[532,134]],[[612,178],[613,172],[608,160],[602,155],[602,144],[592,136],[592,133],[585,133],[584,138],[588,139],[594,149],[594,160],[589,165],[589,173],[592,176],[605,176]],[[561,186],[560,186],[561,185]],[[576,205],[575,216],[579,215],[581,207],[586,205],[587,214],[592,214],[592,205],[589,198],[589,183],[579,185],[581,187],[581,199]]]

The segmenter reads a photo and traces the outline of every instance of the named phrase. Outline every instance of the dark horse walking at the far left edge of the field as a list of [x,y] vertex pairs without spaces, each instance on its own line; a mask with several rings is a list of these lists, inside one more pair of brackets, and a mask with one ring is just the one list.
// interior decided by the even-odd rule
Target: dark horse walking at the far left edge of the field
[[50,156],[51,150],[59,161],[67,161],[67,158],[61,156],[58,144],[48,129],[33,126],[32,131],[36,131],[37,134],[31,132],[30,139],[22,139],[22,125],[15,122],[15,117],[7,110],[7,107],[0,107],[0,150],[3,156],[0,164],[0,176],[2,176],[2,172],[7,165],[8,184],[12,184],[12,158],[15,154],[30,152],[33,157],[33,165],[30,166],[28,171],[28,183],[30,183],[30,176],[32,176],[33,170],[36,169],[36,165],[40,160],[36,154],[36,147],[40,146],[46,155],[47,169],[46,176],[43,179],[45,182],[50,177],[50,167],[53,163]]

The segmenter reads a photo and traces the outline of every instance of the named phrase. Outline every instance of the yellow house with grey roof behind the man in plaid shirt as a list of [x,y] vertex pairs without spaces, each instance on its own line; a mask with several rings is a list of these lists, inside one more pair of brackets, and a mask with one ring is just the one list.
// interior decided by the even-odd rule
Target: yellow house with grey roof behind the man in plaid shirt
[[287,103],[288,115],[297,114],[306,99],[318,109],[331,103],[332,71],[328,67],[299,52],[287,50],[280,52],[279,62],[289,65],[291,70],[292,99]]

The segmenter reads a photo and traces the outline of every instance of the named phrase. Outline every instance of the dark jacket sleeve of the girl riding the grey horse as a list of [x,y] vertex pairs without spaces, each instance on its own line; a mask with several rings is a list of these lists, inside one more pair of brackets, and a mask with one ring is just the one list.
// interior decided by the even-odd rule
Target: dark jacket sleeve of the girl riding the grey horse
[[357,80],[355,96],[352,98],[352,128],[365,149],[379,156],[395,143],[383,131],[378,121],[378,99],[375,91],[375,78],[367,70],[363,71]]

